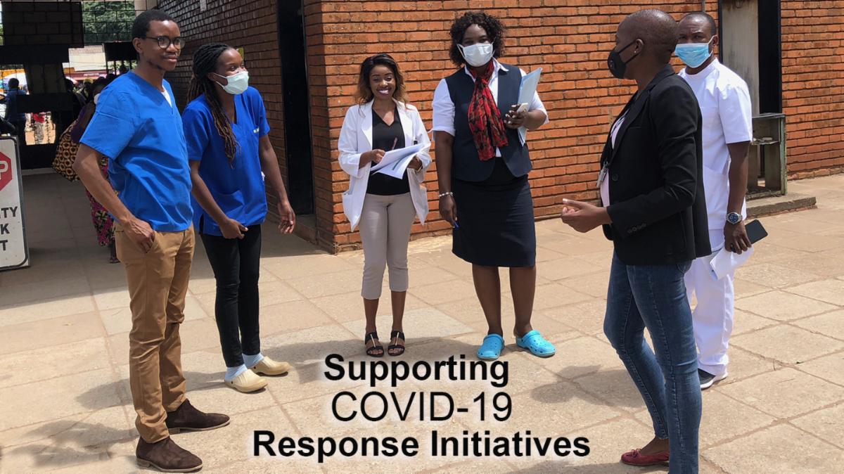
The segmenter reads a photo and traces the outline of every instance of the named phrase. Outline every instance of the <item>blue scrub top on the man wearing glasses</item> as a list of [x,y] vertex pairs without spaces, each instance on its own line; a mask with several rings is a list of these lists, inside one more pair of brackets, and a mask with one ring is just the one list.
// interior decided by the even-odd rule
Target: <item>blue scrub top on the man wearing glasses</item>
[[164,88],[170,102],[137,74],[120,75],[100,94],[80,142],[109,158],[111,186],[136,218],[178,232],[192,222],[191,173],[181,116],[167,81]]

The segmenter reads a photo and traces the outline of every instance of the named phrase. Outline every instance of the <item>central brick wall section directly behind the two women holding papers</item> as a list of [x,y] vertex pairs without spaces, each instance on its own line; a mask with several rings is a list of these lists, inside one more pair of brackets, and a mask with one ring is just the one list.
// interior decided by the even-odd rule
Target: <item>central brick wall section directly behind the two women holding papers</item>
[[[365,57],[389,52],[396,58],[406,75],[410,101],[430,127],[436,84],[454,69],[447,52],[452,20],[469,8],[484,9],[502,19],[509,29],[502,61],[525,70],[543,67],[539,94],[551,122],[528,133],[533,159],[530,180],[536,215],[551,216],[559,213],[564,197],[597,197],[598,155],[609,123],[631,92],[609,75],[606,58],[614,46],[617,25],[641,4],[626,0],[312,2],[306,8],[313,18],[308,22],[313,25],[308,40],[319,46],[309,51],[315,67],[309,77],[313,84],[325,87],[320,104],[327,104],[327,120],[321,116],[320,129],[315,126],[314,133],[320,137],[319,154],[330,153],[332,158],[333,187],[322,189],[333,191],[333,246],[360,245],[360,235],[349,233],[342,213],[341,194],[348,177],[337,164],[336,143],[345,110],[353,104],[358,65]],[[651,4],[677,18],[701,5],[690,0]],[[436,165],[431,170],[436,171]],[[427,186],[430,221],[425,226],[414,224],[414,234],[448,232],[448,224],[437,212],[436,173],[429,173]]]

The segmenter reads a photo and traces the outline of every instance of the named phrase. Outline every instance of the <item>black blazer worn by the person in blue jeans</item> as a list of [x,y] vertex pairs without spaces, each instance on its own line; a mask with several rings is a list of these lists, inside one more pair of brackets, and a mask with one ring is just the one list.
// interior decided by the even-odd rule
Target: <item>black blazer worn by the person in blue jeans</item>
[[665,265],[711,254],[703,191],[701,108],[666,66],[627,103],[609,163],[603,233],[626,265]]

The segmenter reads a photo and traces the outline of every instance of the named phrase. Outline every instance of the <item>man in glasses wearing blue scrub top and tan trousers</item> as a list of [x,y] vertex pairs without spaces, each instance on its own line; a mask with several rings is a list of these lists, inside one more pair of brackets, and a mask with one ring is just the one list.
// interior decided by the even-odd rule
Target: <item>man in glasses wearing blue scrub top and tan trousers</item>
[[[132,35],[138,67],[100,94],[73,169],[116,220],[117,256],[131,297],[138,464],[190,472],[202,461],[173,442],[170,431],[219,428],[229,417],[192,407],[181,372],[179,326],[194,245],[191,177],[181,116],[164,75],[176,68],[183,42],[161,10],[138,15]],[[101,155],[109,158],[108,180],[98,166]]]

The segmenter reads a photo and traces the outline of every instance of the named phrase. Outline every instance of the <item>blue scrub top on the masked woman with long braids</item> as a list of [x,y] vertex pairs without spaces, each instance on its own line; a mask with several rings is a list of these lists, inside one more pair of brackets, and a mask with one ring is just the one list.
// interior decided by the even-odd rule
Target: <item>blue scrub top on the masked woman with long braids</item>
[[[185,127],[187,156],[200,161],[199,175],[226,216],[246,225],[262,224],[267,218],[267,195],[258,155],[258,139],[268,134],[269,124],[263,99],[257,89],[235,95],[237,123],[231,130],[237,140],[235,160],[225,155],[223,137],[214,127],[214,116],[200,95],[185,107],[181,121]],[[199,202],[191,197],[193,224],[203,234],[223,235]]]

